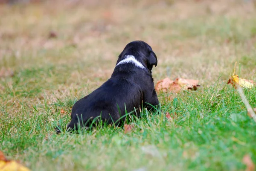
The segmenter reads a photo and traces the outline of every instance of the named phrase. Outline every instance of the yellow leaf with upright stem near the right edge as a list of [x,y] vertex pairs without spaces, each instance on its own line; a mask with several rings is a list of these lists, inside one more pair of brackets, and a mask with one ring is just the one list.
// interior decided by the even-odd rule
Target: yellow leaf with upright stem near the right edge
[[239,76],[236,75],[235,72],[236,72],[236,64],[235,64],[233,75],[230,76],[229,80],[227,81],[227,84],[232,84],[233,87],[235,88],[237,88],[238,85],[243,88],[252,88],[255,85],[253,80],[239,78]]

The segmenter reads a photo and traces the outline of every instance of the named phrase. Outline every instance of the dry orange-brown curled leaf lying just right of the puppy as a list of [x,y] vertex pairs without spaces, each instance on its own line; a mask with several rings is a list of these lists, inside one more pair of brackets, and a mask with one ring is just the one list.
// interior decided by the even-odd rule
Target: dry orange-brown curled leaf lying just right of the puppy
[[155,90],[157,92],[174,91],[176,93],[178,93],[181,89],[197,90],[197,87],[200,87],[198,83],[198,80],[193,79],[176,78],[175,81],[172,81],[170,78],[164,78],[163,80],[157,81]]

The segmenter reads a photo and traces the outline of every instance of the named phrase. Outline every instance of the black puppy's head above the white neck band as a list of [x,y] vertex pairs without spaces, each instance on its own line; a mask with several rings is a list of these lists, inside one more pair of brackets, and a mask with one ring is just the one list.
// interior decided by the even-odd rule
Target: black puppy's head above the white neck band
[[151,46],[144,41],[132,41],[125,46],[125,49],[118,56],[116,64],[122,61],[126,55],[133,55],[137,61],[142,63],[148,70],[152,70],[153,66],[157,66],[157,55]]

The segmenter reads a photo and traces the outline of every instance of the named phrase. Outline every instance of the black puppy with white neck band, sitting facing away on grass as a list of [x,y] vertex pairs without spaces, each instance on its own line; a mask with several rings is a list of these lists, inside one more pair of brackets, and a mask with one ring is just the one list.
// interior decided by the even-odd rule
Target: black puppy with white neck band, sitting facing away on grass
[[[159,105],[151,70],[157,66],[157,56],[144,41],[125,46],[116,62],[111,78],[98,89],[77,101],[71,112],[67,130],[89,126],[97,116],[107,124],[124,121],[127,113],[140,116],[140,108],[149,110]],[[151,105],[150,105],[151,104]],[[153,106],[153,107],[152,107]],[[56,128],[56,132],[60,130]]]

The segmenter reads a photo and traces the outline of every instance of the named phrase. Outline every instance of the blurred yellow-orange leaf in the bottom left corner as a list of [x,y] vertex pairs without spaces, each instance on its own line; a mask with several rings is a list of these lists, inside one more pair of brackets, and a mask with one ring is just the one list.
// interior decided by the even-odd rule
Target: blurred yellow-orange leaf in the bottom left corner
[[31,171],[15,160],[8,160],[0,151],[0,171]]

